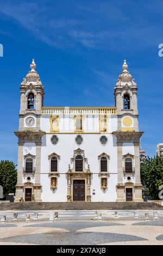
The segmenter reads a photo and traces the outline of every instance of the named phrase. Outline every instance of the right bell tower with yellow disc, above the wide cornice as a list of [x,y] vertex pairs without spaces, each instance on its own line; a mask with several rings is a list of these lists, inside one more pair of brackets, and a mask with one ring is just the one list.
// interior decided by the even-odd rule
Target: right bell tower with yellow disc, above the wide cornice
[[[115,106],[117,107],[117,131],[139,131],[137,111],[137,84],[128,71],[126,60],[123,71],[114,88]],[[127,116],[126,118],[124,118]],[[133,121],[129,118],[131,117]],[[123,118],[123,120],[122,120]]]

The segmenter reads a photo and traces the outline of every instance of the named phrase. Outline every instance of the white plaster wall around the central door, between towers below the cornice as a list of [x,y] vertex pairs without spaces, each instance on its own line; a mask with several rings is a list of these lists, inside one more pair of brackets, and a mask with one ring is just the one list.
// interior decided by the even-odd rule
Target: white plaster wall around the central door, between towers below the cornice
[[[53,145],[51,143],[51,134],[47,134],[42,137],[42,147],[41,147],[41,185],[42,193],[41,199],[43,202],[64,202],[67,200],[67,180],[66,172],[68,170],[68,164],[71,163],[71,158],[73,157],[73,150],[78,148],[85,151],[85,157],[87,162],[90,164],[90,170],[93,173],[91,180],[91,194],[92,189],[96,188],[96,195],[92,196],[93,201],[114,201],[116,198],[116,184],[117,184],[117,147],[116,138],[112,135],[106,135],[108,137],[108,143],[103,146],[99,142],[101,135],[99,134],[83,134],[82,145],[77,145],[74,142],[76,134],[58,134],[59,143]],[[58,179],[58,189],[54,192],[50,189],[50,180],[48,177],[49,173],[49,161],[48,155],[52,153],[57,153],[60,156],[59,161],[59,179]],[[110,178],[108,180],[108,190],[102,192],[100,179],[98,177],[99,173],[99,161],[98,155],[106,153],[110,156],[109,162],[109,173]],[[71,164],[72,168],[72,164]],[[87,164],[86,164],[87,168]],[[95,173],[95,174],[94,174]]]

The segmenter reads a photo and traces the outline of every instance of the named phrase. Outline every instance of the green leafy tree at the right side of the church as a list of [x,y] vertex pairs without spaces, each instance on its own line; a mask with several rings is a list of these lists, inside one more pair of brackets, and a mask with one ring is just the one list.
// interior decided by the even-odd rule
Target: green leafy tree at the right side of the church
[[159,199],[159,186],[163,185],[163,157],[148,157],[141,164],[141,182],[149,189],[153,199]]

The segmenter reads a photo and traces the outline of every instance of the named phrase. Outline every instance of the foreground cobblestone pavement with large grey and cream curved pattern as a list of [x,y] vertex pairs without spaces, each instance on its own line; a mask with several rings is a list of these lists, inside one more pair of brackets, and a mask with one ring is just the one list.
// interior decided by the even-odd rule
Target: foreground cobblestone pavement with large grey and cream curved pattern
[[7,222],[0,245],[163,245],[163,221]]

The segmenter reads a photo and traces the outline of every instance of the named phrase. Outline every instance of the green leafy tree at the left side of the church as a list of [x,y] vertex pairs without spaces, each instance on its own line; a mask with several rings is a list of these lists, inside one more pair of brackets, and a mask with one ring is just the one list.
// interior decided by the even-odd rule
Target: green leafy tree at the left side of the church
[[3,194],[7,195],[15,191],[17,182],[16,165],[12,161],[0,162],[0,185],[3,187]]

